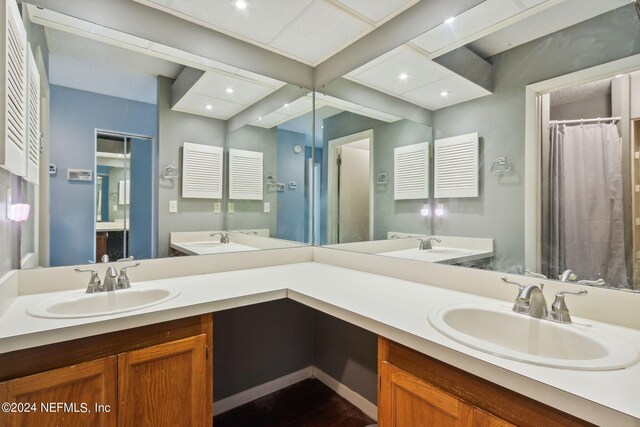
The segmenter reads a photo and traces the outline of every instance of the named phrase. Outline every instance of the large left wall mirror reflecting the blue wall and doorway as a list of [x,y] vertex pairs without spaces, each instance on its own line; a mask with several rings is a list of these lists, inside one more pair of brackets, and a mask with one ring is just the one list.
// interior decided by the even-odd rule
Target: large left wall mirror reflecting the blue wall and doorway
[[[48,78],[46,185],[10,183],[37,211],[19,252],[48,248],[23,268],[311,242],[309,90],[31,4],[22,15]],[[260,119],[243,115],[256,105]]]

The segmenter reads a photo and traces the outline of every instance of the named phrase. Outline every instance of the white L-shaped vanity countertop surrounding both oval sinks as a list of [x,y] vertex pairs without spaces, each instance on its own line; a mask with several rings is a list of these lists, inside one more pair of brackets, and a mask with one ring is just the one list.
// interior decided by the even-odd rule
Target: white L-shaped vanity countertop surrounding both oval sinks
[[[19,296],[0,317],[0,352],[8,352],[186,316],[291,298],[412,347],[472,374],[596,424],[640,425],[640,364],[576,371],[511,361],[459,344],[433,329],[427,313],[452,303],[508,303],[341,267],[306,262],[133,283],[176,286],[166,303],[113,316],[41,319],[26,309],[64,291]],[[640,332],[599,322],[640,348]]]

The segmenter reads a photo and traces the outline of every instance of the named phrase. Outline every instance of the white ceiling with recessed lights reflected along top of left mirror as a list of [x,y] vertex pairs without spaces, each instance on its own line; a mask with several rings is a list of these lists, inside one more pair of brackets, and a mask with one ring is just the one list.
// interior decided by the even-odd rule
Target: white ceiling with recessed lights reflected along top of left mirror
[[187,66],[201,71],[202,77],[173,109],[225,120],[284,85],[80,19],[27,7],[31,21],[45,27],[54,85],[155,104],[156,78],[176,79]]

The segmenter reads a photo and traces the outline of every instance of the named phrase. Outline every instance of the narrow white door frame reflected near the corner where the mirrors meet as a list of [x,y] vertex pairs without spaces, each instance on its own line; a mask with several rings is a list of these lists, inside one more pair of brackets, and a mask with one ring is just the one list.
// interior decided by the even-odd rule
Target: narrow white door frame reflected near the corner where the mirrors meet
[[331,139],[328,142],[328,170],[327,170],[327,243],[338,243],[338,180],[336,179],[336,161],[338,148],[352,142],[369,139],[369,240],[373,239],[373,129]]

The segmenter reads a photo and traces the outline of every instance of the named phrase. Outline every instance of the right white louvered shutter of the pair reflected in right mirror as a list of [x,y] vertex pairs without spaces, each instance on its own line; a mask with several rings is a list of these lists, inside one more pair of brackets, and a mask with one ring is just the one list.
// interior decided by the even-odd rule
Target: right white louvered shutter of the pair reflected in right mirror
[[434,197],[478,197],[478,133],[436,139]]

